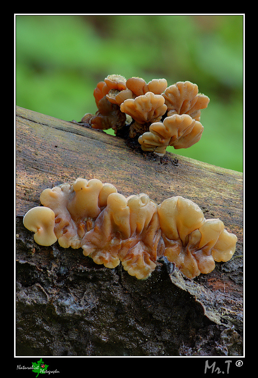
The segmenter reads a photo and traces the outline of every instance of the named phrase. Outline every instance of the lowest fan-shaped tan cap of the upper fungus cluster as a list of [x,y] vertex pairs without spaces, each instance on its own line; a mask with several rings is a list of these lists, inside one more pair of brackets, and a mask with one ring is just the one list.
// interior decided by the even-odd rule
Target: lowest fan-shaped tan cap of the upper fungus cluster
[[154,151],[162,156],[168,146],[179,149],[197,143],[202,137],[204,127],[187,114],[174,114],[165,118],[163,122],[152,123],[149,130],[138,138],[141,149]]

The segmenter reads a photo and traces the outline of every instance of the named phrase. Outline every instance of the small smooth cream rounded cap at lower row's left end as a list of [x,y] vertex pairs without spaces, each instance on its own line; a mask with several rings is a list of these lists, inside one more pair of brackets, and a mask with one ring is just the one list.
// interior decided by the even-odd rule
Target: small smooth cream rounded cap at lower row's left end
[[23,218],[24,226],[34,232],[34,241],[39,245],[49,246],[57,241],[54,234],[54,212],[49,207],[36,206]]

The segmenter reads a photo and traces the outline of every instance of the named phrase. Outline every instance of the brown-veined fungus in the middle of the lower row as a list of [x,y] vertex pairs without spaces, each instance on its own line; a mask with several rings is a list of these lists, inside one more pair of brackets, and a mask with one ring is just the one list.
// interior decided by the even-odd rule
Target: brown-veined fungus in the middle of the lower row
[[130,275],[146,278],[156,267],[159,237],[156,205],[148,196],[126,199],[113,193],[94,229],[83,238],[82,248],[97,264],[113,268],[121,261]]

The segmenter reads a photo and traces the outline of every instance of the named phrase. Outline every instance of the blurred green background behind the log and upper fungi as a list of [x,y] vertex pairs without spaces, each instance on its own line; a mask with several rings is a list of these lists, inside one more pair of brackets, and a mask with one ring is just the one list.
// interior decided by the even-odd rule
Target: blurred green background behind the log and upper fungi
[[112,73],[196,83],[210,98],[203,136],[169,151],[242,172],[242,15],[16,16],[18,106],[80,121]]

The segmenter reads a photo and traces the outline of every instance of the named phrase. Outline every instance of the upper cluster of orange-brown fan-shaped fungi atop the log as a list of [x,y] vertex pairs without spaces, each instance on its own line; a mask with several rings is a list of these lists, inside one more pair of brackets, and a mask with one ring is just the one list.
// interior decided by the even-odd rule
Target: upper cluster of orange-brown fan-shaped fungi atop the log
[[81,122],[137,138],[143,151],[164,155],[168,146],[188,148],[202,136],[201,109],[209,98],[189,81],[168,86],[166,79],[146,83],[139,77],[109,75],[93,95],[98,111],[87,113]]

